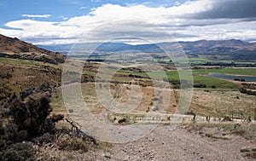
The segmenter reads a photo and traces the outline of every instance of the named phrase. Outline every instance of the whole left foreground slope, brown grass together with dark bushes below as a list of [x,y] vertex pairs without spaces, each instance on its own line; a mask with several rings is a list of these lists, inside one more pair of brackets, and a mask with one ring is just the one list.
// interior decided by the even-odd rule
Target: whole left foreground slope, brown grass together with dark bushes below
[[104,148],[66,121],[54,124],[68,118],[59,89],[61,64],[1,58],[0,66],[0,160],[77,160],[78,153]]

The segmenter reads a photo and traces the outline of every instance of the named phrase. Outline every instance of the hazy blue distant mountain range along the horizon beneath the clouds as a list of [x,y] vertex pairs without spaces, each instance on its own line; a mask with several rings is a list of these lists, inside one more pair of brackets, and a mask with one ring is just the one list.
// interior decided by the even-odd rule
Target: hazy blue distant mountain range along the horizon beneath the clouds
[[[241,40],[200,40],[195,42],[178,42],[187,55],[218,55],[233,60],[256,60],[256,43],[247,43]],[[96,52],[119,52],[131,50],[144,53],[161,53],[161,47],[172,47],[175,43],[155,43],[131,45],[126,43],[80,43],[75,49],[95,50]],[[73,44],[38,45],[41,48],[65,53],[72,49]]]

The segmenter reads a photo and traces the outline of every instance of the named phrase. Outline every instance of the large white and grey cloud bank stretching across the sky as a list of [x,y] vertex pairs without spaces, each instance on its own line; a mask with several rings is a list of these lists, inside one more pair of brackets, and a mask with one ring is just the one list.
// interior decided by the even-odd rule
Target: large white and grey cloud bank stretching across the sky
[[[156,42],[169,41],[170,37],[159,32],[159,28],[172,34],[177,41],[256,39],[256,6],[253,2],[254,0],[197,0],[155,8],[143,4],[104,4],[91,9],[89,14],[63,19],[61,22],[10,21],[6,26],[12,29],[0,29],[0,32],[32,43],[75,43],[86,32],[90,33],[90,41],[105,41],[108,40],[108,35],[148,37]],[[46,18],[49,14],[37,16]],[[116,26],[111,25],[118,20]],[[140,43],[128,39],[129,37],[128,43]]]

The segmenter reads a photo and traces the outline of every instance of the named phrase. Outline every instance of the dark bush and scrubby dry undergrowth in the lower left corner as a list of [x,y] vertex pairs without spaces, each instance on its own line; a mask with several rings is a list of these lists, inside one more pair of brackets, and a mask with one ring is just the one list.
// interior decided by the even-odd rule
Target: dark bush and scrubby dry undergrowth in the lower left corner
[[64,115],[51,114],[49,91],[39,91],[34,90],[23,98],[12,95],[1,108],[0,160],[46,159],[44,147],[49,145],[59,151],[83,152],[96,145],[96,140],[72,121],[68,121],[72,128],[56,129],[55,123],[63,120]]

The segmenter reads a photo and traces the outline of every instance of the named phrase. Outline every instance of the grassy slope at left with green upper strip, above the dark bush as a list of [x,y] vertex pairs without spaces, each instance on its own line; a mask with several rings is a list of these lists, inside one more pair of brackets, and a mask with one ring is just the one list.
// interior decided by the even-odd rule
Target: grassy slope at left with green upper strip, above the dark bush
[[37,89],[42,83],[60,83],[61,67],[61,64],[0,58],[0,103],[22,89]]

